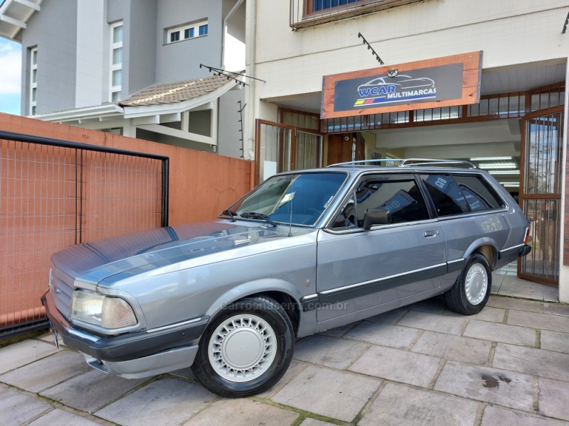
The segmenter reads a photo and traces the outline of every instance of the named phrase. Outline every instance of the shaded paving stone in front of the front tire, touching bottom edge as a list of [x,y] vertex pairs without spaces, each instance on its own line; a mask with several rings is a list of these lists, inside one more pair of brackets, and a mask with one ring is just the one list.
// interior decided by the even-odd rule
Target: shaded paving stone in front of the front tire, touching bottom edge
[[216,395],[198,383],[163,378],[107,405],[95,415],[123,426],[179,425],[214,399]]

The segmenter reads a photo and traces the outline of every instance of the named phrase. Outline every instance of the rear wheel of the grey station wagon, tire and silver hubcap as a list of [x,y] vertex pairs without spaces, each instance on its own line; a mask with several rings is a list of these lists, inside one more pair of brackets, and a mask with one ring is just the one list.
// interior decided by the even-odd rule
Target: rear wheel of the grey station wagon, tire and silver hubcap
[[474,253],[450,290],[445,302],[454,312],[474,315],[482,310],[490,297],[492,274],[486,257]]

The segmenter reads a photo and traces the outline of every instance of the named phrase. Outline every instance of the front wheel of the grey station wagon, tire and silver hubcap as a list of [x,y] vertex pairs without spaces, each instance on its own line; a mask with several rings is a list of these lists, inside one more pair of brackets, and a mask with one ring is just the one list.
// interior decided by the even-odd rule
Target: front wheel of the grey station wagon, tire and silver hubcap
[[192,371],[208,391],[241,398],[277,383],[293,351],[292,323],[282,306],[270,297],[248,297],[208,324]]

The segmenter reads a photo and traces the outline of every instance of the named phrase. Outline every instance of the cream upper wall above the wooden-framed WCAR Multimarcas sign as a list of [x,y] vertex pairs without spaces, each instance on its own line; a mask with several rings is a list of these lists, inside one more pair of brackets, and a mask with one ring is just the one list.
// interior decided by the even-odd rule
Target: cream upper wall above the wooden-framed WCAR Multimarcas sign
[[427,0],[292,31],[289,1],[257,1],[257,98],[318,92],[322,76],[483,50],[483,67],[567,58],[568,0]]

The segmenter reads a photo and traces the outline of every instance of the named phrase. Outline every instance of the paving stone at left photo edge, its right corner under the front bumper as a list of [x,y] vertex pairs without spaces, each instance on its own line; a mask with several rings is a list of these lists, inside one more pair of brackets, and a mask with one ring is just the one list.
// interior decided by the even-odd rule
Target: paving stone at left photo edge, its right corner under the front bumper
[[0,381],[26,391],[39,392],[90,369],[83,355],[75,351],[61,350],[33,364],[4,373],[0,376]]

